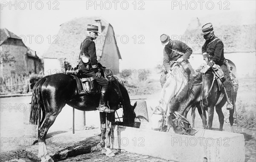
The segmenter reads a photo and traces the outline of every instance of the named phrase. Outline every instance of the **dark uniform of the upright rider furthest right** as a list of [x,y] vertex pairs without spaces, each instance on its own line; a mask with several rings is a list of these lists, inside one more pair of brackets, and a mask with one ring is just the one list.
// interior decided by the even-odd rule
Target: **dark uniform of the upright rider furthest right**
[[[231,98],[232,83],[229,71],[227,69],[226,59],[224,58],[224,44],[219,38],[213,36],[213,38],[207,40],[202,46],[202,53],[204,58],[208,58],[208,62],[213,61],[215,64],[221,67],[226,78],[224,87],[227,90],[229,98]],[[208,65],[212,66],[210,63]]]

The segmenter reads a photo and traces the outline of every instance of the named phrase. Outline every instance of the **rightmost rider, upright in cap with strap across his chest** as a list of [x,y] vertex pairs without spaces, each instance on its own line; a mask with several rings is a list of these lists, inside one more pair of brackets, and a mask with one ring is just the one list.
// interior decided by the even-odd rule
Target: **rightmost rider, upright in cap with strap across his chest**
[[217,64],[221,67],[226,78],[224,81],[224,87],[227,91],[229,100],[229,102],[227,102],[227,110],[232,110],[232,82],[230,78],[230,72],[227,68],[229,65],[224,58],[224,44],[214,35],[212,23],[207,23],[202,27],[201,35],[204,35],[204,39],[206,40],[202,46],[203,58],[207,62],[207,66],[205,69],[203,69],[203,73],[207,72],[207,70],[214,64]]

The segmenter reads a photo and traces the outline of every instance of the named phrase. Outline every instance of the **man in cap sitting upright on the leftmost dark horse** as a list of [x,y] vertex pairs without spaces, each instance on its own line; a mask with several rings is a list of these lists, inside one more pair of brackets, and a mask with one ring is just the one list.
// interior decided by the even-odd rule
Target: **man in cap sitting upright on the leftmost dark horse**
[[96,56],[96,47],[93,40],[98,37],[98,26],[87,25],[87,36],[83,40],[80,46],[79,64],[77,69],[81,72],[81,76],[84,78],[93,77],[99,85],[101,85],[100,101],[97,110],[99,112],[111,113],[108,107],[108,94],[109,84],[104,78],[104,74],[101,73],[102,65],[98,63]]

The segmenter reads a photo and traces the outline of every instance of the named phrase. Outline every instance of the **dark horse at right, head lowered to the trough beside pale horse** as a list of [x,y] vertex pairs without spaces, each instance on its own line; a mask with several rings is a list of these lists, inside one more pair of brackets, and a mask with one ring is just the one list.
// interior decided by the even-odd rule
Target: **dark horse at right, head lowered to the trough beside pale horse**
[[[220,122],[219,130],[223,130],[224,115],[221,108],[226,103],[227,98],[225,93],[219,89],[217,79],[213,79],[214,77],[212,69],[208,70],[204,75],[199,72],[183,88],[179,95],[173,98],[169,107],[171,113],[168,121],[169,124],[172,125],[175,133],[183,133],[184,130],[189,128],[188,122],[183,117],[186,118],[190,107],[193,105],[198,108],[198,113],[203,119],[204,129],[212,129],[214,107],[216,107],[215,110]],[[229,110],[231,131],[233,131],[233,114],[237,90],[238,86],[236,86],[233,91],[233,109]],[[208,112],[208,125],[205,111]]]

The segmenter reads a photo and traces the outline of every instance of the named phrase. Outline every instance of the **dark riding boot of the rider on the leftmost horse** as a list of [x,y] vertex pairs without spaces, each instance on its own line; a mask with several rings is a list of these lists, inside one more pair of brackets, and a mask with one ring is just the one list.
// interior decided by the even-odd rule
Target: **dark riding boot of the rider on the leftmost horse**
[[108,94],[109,94],[109,86],[108,85],[102,86],[101,93],[100,93],[99,107],[97,108],[99,112],[112,113],[115,111],[115,110],[111,110],[108,107]]

